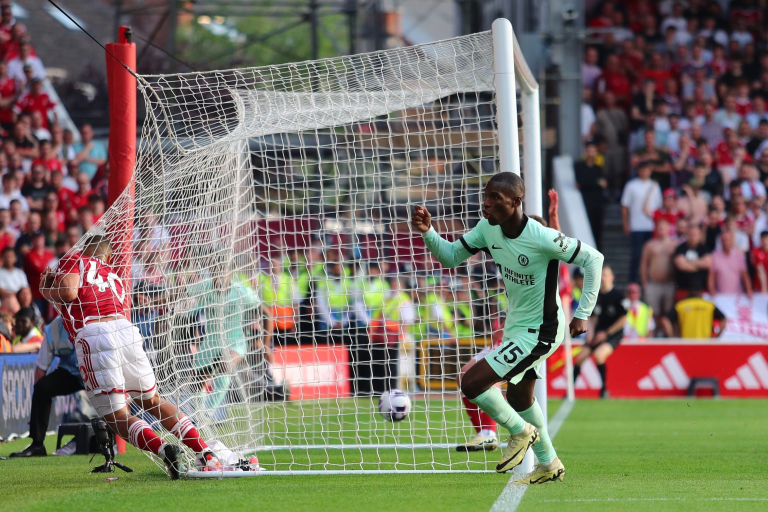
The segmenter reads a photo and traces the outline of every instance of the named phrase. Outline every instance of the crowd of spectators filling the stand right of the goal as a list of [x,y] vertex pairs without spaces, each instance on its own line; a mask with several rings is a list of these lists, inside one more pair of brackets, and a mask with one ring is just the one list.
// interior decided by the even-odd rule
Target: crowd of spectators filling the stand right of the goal
[[657,320],[702,292],[768,292],[765,12],[606,0],[588,18],[577,182],[598,246],[605,200],[621,203],[630,281]]

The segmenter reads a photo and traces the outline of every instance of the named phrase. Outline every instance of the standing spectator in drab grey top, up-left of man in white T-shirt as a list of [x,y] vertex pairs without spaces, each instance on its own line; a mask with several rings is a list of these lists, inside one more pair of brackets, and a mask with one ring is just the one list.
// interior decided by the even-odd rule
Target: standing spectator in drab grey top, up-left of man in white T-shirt
[[617,193],[621,189],[627,168],[627,136],[629,120],[627,114],[616,105],[613,92],[604,94],[605,107],[598,111],[595,121],[595,137],[601,137],[607,145],[605,150],[605,177],[608,190]]

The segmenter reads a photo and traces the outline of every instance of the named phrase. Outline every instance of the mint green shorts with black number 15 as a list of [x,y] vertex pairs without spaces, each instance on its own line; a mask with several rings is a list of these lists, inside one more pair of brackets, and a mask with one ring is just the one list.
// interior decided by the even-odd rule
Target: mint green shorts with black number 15
[[501,345],[494,348],[485,356],[485,361],[491,365],[496,375],[510,384],[517,384],[528,370],[536,372],[536,378],[541,378],[539,363],[546,361],[560,346],[560,341],[540,341],[531,336],[530,339],[520,336],[505,339]]

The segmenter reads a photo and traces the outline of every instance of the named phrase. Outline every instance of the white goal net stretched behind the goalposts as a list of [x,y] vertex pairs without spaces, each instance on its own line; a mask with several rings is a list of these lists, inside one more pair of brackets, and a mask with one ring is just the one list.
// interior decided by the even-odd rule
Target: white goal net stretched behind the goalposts
[[[455,446],[475,434],[458,373],[500,329],[501,281],[483,253],[443,269],[409,216],[426,206],[453,239],[500,168],[522,156],[540,183],[517,48],[517,90],[508,73],[495,91],[494,46],[511,62],[512,39],[138,78],[134,177],[94,231],[131,266],[161,395],[204,438],[270,472],[496,464]],[[379,413],[392,389],[409,396],[403,421]]]

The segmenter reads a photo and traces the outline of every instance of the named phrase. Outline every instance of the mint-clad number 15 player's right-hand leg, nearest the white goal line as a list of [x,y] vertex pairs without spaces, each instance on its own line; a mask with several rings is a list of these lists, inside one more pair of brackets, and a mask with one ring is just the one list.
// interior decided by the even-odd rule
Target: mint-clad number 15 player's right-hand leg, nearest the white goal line
[[[533,445],[533,452],[538,458],[538,464],[533,471],[525,477],[515,481],[515,484],[544,484],[551,481],[562,481],[565,475],[565,467],[554,451],[552,441],[549,438],[547,422],[544,413],[533,397],[535,379],[523,378],[516,385],[507,386],[507,400],[510,405],[520,410],[521,418],[535,426],[538,430],[538,441]],[[532,404],[531,404],[532,402]],[[525,405],[531,404],[525,408]]]

